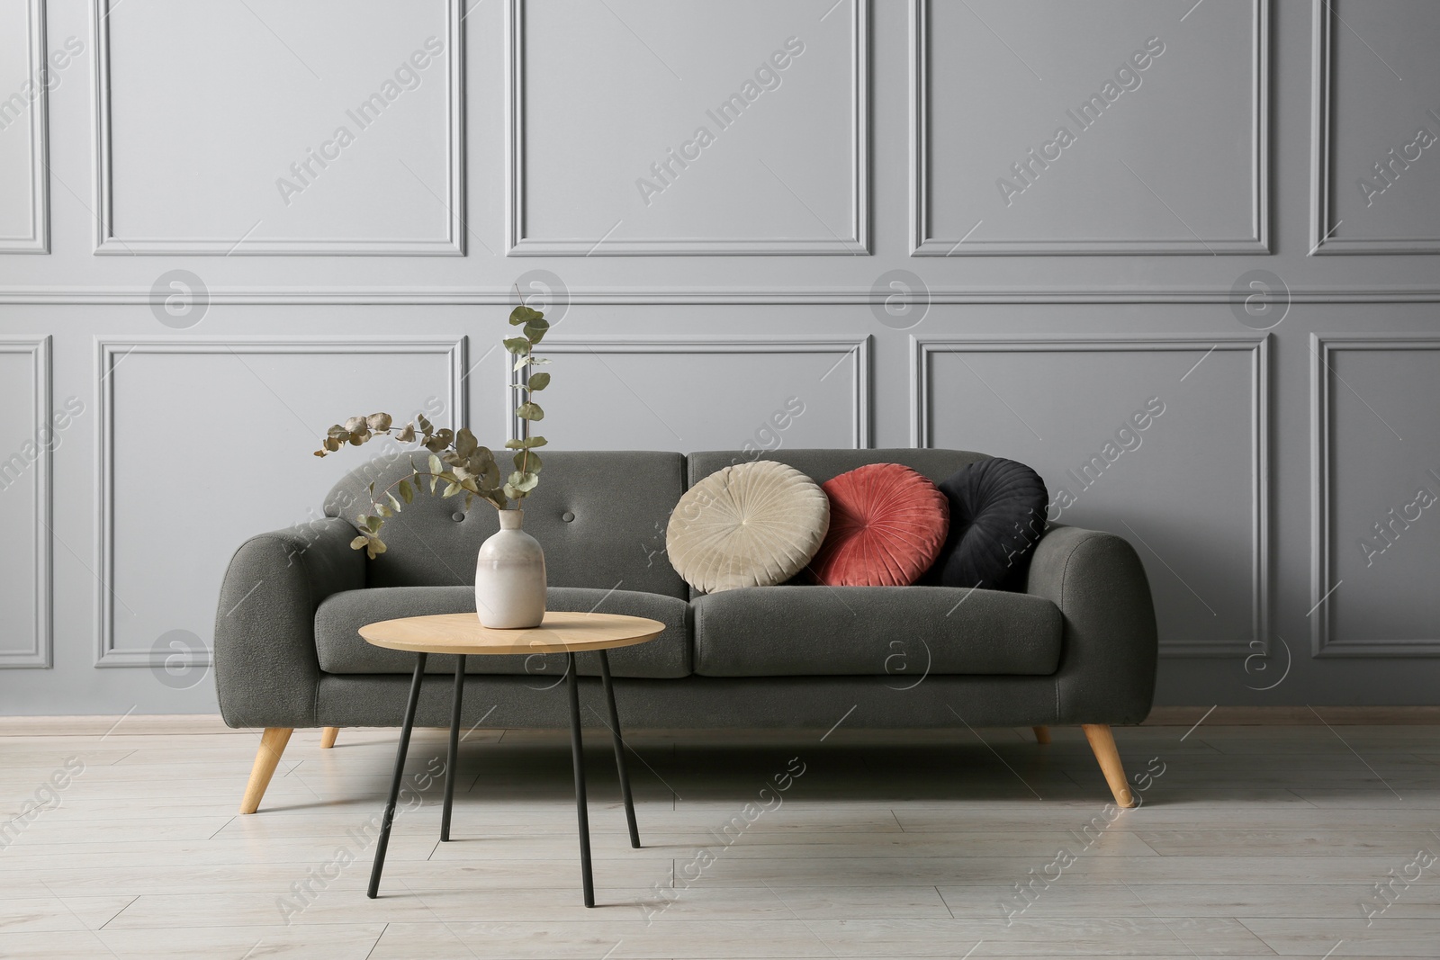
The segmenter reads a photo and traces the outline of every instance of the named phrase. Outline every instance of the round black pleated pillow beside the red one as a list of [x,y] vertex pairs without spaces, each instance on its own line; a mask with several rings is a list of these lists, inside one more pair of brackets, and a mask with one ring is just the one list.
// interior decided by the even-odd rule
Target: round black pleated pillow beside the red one
[[939,488],[950,501],[950,533],[926,580],[945,587],[1024,590],[1050,502],[1040,474],[994,456],[965,466]]

